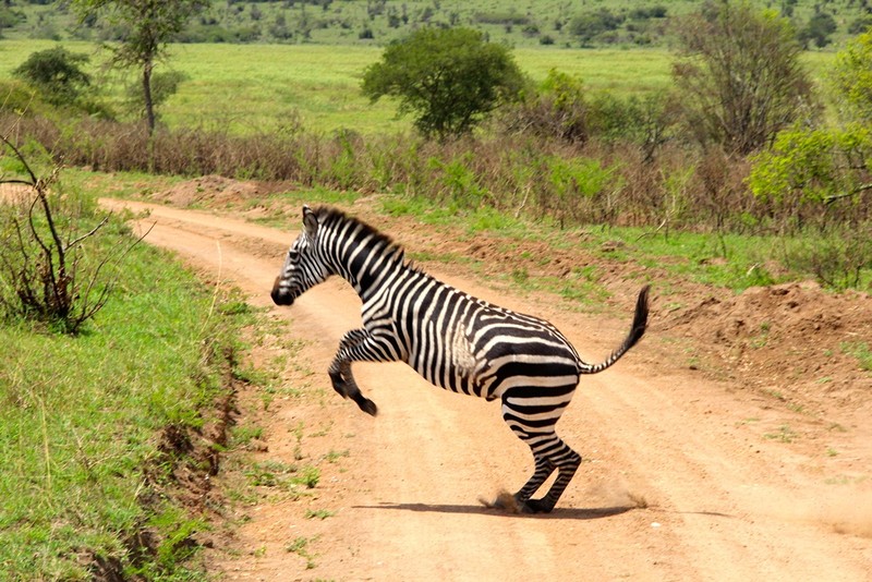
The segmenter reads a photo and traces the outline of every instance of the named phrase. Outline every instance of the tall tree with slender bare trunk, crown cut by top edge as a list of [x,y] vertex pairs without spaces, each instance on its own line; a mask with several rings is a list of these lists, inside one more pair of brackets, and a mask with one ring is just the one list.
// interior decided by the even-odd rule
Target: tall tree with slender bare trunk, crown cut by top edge
[[143,102],[148,132],[155,131],[152,74],[155,64],[167,56],[167,45],[182,32],[187,21],[208,0],[72,0],[81,21],[95,13],[118,25],[123,35],[112,47],[113,62],[142,73]]

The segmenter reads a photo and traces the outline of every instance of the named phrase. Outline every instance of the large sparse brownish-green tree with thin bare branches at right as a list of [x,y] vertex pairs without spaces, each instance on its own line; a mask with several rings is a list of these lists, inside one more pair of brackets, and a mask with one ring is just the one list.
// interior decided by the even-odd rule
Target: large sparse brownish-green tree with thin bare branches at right
[[720,0],[682,19],[673,77],[683,117],[703,144],[748,154],[802,116],[815,116],[802,47],[786,19],[748,0]]

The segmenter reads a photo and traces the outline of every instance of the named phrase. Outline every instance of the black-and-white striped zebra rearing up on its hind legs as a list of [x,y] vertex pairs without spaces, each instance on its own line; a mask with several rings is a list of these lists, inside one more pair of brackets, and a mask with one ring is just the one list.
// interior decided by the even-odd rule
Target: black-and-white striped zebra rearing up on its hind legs
[[[642,338],[649,288],[639,292],[629,335],[598,364],[581,360],[555,326],[459,291],[405,260],[403,248],[366,222],[332,207],[303,206],[303,231],[272,286],[277,305],[291,305],[332,275],[360,295],[363,327],[344,334],[328,374],[334,389],[375,416],[352,362],[404,362],[429,383],[459,393],[499,399],[502,419],[525,442],[534,472],[511,498],[494,505],[550,512],[581,463],[555,425],[582,374],[611,366]],[[532,499],[557,471],[548,492]]]

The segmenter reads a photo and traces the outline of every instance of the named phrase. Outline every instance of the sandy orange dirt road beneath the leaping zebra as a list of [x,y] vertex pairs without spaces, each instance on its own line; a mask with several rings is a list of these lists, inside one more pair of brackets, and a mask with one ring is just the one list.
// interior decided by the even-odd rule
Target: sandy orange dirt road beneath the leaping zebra
[[[839,419],[836,431],[742,386],[704,379],[677,364],[677,344],[657,335],[657,300],[650,336],[615,367],[583,378],[558,425],[585,462],[557,509],[507,514],[479,499],[514,490],[532,457],[496,404],[435,389],[401,364],[355,365],[379,407],[375,419],[332,392],[324,372],[342,332],[358,326],[360,302],[330,280],[291,308],[271,306],[268,291],[295,232],[104,204],[148,208],[144,222],[156,226],[147,242],[289,322],[289,336],[263,340],[269,353],[292,340],[300,350],[286,373],[310,396],[276,398],[264,411],[257,395],[241,395],[239,422],[264,427],[254,453],[262,461],[293,462],[303,450],[320,481],[303,497],[237,502],[244,519],[209,558],[226,580],[872,580],[868,416]],[[631,316],[629,300],[623,319],[603,320],[549,298],[441,278],[545,316],[589,361],[617,344]]]

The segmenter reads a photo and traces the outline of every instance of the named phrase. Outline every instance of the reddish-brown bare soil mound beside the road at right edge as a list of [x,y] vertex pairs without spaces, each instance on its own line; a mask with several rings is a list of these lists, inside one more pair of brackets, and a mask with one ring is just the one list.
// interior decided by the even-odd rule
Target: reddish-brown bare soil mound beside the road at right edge
[[812,281],[753,287],[708,295],[663,325],[692,339],[708,364],[786,399],[802,391],[845,405],[872,390],[872,372],[857,356],[872,348],[868,293],[831,293]]

